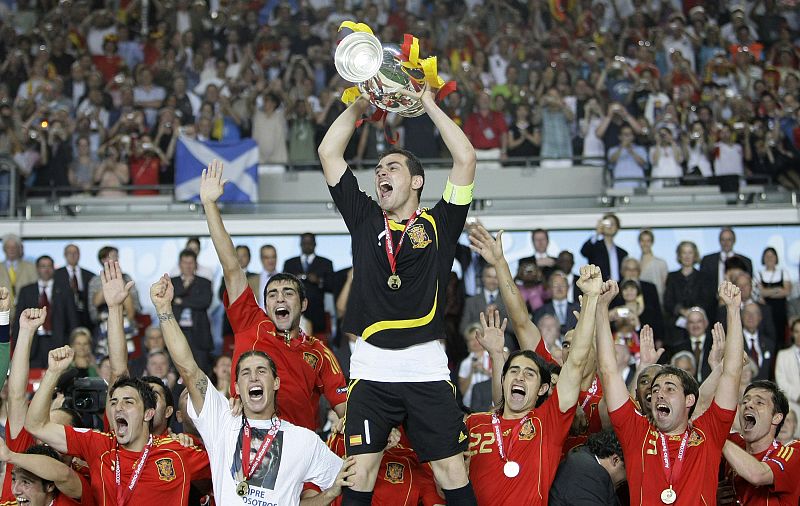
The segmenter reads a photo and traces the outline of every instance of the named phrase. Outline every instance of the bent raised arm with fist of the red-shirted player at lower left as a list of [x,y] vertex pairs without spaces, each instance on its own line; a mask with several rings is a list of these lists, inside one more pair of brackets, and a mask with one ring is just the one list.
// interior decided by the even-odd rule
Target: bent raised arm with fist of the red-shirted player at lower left
[[50,421],[50,401],[58,379],[69,368],[74,356],[75,352],[69,346],[50,350],[47,355],[47,371],[31,400],[28,416],[25,417],[25,429],[60,453],[67,453],[67,435],[63,425]]

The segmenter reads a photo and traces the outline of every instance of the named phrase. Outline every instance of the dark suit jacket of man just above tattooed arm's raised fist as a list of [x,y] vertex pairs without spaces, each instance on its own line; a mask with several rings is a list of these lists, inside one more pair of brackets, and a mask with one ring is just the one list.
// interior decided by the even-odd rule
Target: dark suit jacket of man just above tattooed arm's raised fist
[[[192,327],[183,329],[190,346],[195,353],[196,350],[210,352],[214,349],[214,343],[211,340],[211,322],[208,319],[208,308],[211,306],[211,298],[214,296],[211,281],[195,276],[192,284],[184,288],[181,277],[176,276],[172,278],[172,286],[175,287],[172,313],[178,322],[181,321],[181,313],[184,309],[192,312]],[[175,303],[176,299],[180,300],[180,304]],[[199,362],[198,365],[201,369],[203,368]]]

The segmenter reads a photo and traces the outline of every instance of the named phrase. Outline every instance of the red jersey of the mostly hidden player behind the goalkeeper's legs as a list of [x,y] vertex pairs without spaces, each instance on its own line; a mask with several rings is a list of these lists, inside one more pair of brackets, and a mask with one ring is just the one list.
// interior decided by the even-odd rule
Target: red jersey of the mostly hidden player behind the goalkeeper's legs
[[[378,506],[433,506],[444,504],[444,499],[436,491],[433,470],[430,464],[421,464],[417,454],[404,446],[407,440],[386,450],[378,469],[378,479],[372,495],[372,504]],[[332,434],[328,438],[328,447],[336,455],[344,457],[344,435]],[[340,506],[339,496],[331,504]]]

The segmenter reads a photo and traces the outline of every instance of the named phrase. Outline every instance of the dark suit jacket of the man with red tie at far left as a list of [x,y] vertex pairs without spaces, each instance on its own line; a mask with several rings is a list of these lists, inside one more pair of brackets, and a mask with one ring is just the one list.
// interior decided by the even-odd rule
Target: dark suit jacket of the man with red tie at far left
[[[39,283],[31,283],[22,287],[17,294],[17,314],[28,308],[39,307]],[[75,298],[69,288],[53,282],[53,295],[50,297],[52,313],[52,335],[33,337],[31,347],[31,367],[46,368],[47,354],[50,350],[69,344],[69,333],[79,325],[78,312],[75,309]],[[19,325],[14,325],[14,340],[19,335]]]

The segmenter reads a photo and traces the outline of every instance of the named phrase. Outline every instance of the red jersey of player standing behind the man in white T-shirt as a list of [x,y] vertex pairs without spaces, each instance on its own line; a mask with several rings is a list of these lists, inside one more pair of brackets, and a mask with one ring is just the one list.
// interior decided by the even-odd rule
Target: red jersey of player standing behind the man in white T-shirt
[[[331,406],[347,400],[344,374],[331,350],[312,336],[292,339],[287,345],[278,336],[272,320],[258,307],[249,286],[230,305],[226,293],[224,303],[236,336],[231,378],[236,378],[236,364],[243,353],[263,351],[275,361],[281,378],[277,398],[281,418],[316,430],[320,394],[325,395]],[[231,394],[236,393],[234,383],[231,383]]]

